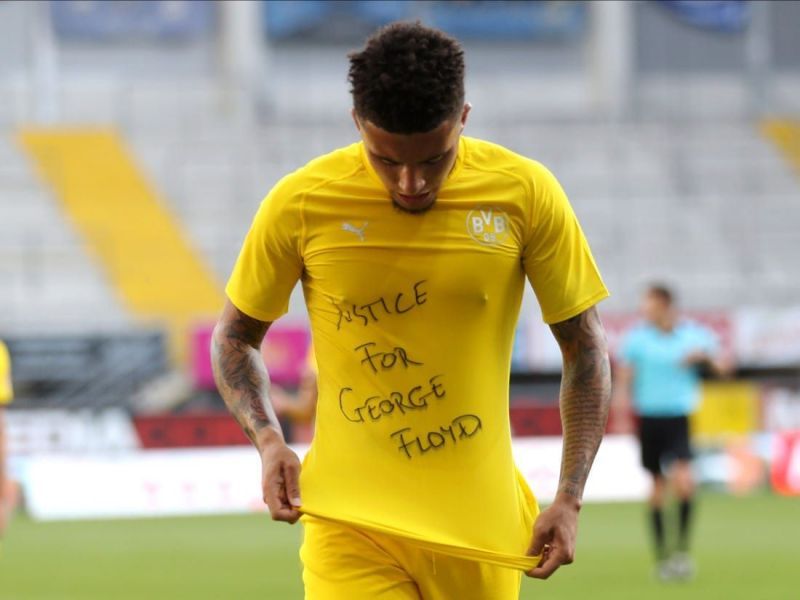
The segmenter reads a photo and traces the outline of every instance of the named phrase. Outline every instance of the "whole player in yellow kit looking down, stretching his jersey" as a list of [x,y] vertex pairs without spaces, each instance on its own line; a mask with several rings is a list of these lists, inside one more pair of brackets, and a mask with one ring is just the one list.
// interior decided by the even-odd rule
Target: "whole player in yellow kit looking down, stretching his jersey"
[[[272,518],[302,515],[306,598],[517,598],[522,571],[573,560],[610,398],[608,292],[555,177],[462,135],[457,41],[389,25],[350,55],[349,81],[361,141],[261,204],[213,336],[217,384]],[[541,513],[508,418],[526,276],[564,356],[561,478]],[[259,353],[297,281],[319,369],[302,468]]]

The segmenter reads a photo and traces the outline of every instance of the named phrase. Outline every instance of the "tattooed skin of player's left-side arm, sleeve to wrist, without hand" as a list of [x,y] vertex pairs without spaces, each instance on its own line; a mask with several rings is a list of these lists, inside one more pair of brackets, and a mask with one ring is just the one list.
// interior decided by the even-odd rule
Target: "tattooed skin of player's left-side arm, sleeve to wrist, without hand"
[[265,427],[276,427],[269,402],[269,376],[261,358],[261,340],[269,323],[238,312],[218,326],[211,344],[214,380],[225,404],[253,443]]

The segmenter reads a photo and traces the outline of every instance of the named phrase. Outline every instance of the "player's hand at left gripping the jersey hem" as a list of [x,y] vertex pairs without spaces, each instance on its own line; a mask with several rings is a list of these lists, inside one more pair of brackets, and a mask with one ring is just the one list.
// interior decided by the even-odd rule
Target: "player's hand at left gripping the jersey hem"
[[300,518],[300,459],[282,439],[261,445],[261,489],[273,521]]

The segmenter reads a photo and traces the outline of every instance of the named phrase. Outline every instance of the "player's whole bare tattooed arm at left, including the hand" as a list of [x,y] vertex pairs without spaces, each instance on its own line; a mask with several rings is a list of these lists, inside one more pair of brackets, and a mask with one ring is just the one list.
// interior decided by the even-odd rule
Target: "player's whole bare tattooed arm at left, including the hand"
[[300,518],[300,461],[283,438],[269,397],[261,343],[271,323],[228,301],[211,342],[214,379],[222,398],[261,455],[264,502],[276,521]]

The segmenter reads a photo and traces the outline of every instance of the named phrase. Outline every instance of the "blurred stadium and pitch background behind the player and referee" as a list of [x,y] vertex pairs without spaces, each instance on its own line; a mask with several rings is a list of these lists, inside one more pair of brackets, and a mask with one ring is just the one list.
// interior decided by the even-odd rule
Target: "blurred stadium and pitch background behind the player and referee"
[[[301,597],[299,531],[251,514],[258,457],[214,388],[209,335],[261,199],[357,139],[347,52],[398,19],[462,40],[467,134],[562,182],[612,291],[612,350],[657,280],[738,364],[692,421],[697,580],[652,580],[647,480],[614,435],[577,563],[547,597],[800,597],[800,2],[61,0],[0,3],[0,339],[21,490],[0,598]],[[297,290],[264,347],[287,396],[308,343]],[[511,423],[545,502],[559,378],[529,294]],[[302,452],[300,421],[285,424]]]

